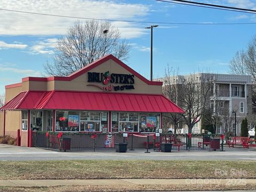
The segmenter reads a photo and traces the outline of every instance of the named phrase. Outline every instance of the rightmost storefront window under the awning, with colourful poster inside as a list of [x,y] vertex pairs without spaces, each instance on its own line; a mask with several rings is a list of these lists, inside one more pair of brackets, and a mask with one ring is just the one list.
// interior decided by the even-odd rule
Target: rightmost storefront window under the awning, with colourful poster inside
[[140,114],[140,132],[158,132],[160,114]]

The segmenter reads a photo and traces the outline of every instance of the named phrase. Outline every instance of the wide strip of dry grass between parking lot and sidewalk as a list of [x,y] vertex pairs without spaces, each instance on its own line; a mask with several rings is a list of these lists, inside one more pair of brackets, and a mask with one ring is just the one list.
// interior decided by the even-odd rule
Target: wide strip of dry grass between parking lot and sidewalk
[[[0,179],[256,178],[255,161],[0,162]],[[222,170],[222,174],[216,171]]]

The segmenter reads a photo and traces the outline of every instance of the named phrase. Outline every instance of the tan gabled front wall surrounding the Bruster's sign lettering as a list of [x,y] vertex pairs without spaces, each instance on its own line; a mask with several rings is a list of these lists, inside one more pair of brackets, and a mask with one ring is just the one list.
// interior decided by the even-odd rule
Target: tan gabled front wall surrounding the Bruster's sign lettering
[[[106,71],[109,71],[109,74],[115,73],[115,74],[131,74],[129,71],[127,71],[122,66],[118,65],[113,60],[108,60],[105,63],[102,63],[100,66],[97,66],[90,70],[89,72],[97,72],[97,73],[105,73]],[[73,81],[67,82],[67,81],[55,81],[55,90],[71,90],[71,91],[103,91],[99,89],[98,87],[94,86],[87,86],[88,84],[95,84],[99,86],[108,86],[103,85],[102,83],[97,82],[87,82],[88,81],[88,74],[87,72],[75,79]],[[111,83],[112,85],[126,85],[126,84],[115,84]],[[131,85],[131,84],[129,84]],[[161,85],[148,85],[145,82],[143,82],[140,78],[134,76],[134,90],[123,90],[123,91],[115,91],[118,93],[151,93],[151,94],[162,94],[162,86]],[[114,92],[114,91],[112,91]]]

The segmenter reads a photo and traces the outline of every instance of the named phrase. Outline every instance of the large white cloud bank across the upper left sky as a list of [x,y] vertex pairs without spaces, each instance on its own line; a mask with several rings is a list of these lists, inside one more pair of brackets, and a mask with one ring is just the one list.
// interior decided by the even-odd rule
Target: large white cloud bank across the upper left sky
[[[149,5],[119,3],[118,1],[89,0],[0,0],[2,9],[28,11],[71,17],[113,20],[141,20],[149,13]],[[77,19],[0,11],[0,35],[62,35]],[[83,21],[83,20],[82,20]],[[122,37],[133,38],[143,34],[135,23],[115,22]]]

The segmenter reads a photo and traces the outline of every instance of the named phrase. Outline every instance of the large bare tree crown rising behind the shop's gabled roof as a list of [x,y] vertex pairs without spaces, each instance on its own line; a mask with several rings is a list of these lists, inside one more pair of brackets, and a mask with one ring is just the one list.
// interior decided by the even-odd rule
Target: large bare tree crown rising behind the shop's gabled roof
[[120,40],[120,33],[110,22],[89,20],[79,21],[58,39],[53,63],[47,62],[44,70],[47,75],[68,76],[89,63],[113,54],[126,60],[130,45],[126,39]]

